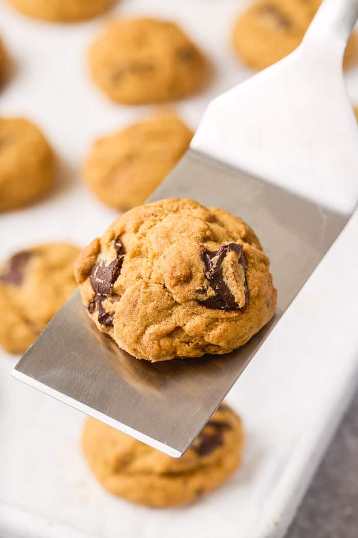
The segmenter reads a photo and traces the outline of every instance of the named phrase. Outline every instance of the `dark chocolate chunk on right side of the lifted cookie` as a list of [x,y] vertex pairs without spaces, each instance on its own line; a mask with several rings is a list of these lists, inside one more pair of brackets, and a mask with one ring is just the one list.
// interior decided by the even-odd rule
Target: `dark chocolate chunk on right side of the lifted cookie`
[[[246,270],[246,263],[242,246],[236,243],[228,243],[221,245],[219,250],[210,252],[203,249],[201,252],[201,259],[204,264],[205,276],[209,282],[210,288],[213,289],[215,295],[205,299],[205,301],[199,301],[207,308],[226,310],[239,310],[242,311],[248,303],[249,295],[247,289],[247,281],[245,275],[245,304],[240,308],[233,293],[231,293],[229,286],[224,282],[221,264],[227,254],[227,252],[236,252],[238,254],[237,262],[242,266],[244,272]],[[214,261],[213,261],[214,260]]]

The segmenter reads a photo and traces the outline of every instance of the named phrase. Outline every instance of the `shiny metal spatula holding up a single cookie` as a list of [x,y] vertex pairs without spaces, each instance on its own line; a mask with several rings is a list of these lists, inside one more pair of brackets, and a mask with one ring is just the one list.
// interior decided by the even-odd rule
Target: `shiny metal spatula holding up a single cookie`
[[151,198],[189,196],[254,228],[278,288],[271,323],[228,356],[151,364],[97,331],[75,292],[16,378],[171,456],[185,452],[355,208],[358,129],[341,66],[357,17],[358,0],[325,0],[293,54],[210,103]]

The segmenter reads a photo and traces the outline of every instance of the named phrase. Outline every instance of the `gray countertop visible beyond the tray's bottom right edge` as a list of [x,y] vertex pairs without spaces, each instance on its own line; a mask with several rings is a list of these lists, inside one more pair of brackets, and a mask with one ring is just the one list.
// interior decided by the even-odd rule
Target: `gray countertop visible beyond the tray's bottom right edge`
[[286,538],[358,538],[358,393]]

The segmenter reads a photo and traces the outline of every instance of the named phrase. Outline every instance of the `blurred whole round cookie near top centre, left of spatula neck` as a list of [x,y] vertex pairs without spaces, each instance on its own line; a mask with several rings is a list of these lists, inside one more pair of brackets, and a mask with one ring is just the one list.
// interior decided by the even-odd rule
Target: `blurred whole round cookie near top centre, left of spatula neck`
[[199,90],[207,61],[174,23],[138,18],[112,22],[89,53],[93,80],[124,104],[170,101]]

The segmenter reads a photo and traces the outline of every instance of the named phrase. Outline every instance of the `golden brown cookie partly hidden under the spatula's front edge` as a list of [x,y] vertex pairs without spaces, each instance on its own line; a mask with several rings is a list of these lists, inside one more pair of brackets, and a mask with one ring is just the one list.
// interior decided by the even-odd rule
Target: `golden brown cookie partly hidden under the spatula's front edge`
[[243,428],[236,413],[222,404],[192,447],[174,459],[88,419],[82,447],[106,490],[132,502],[165,508],[195,501],[233,475],[241,464]]

